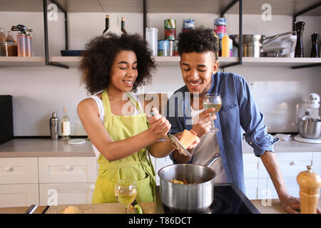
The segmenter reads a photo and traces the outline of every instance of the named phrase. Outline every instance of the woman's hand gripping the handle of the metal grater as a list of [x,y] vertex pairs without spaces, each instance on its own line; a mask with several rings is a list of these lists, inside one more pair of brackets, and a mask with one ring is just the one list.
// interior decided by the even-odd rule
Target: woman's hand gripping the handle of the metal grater
[[148,118],[148,121],[151,126],[150,130],[152,137],[157,142],[162,138],[167,138],[167,133],[170,130],[171,125],[163,115],[159,114],[157,108],[153,108],[152,110],[155,115]]

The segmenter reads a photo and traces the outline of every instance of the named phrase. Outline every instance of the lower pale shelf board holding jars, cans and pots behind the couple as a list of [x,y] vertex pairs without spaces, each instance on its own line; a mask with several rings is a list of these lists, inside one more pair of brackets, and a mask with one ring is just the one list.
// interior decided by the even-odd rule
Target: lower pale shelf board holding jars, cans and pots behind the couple
[[[82,57],[78,56],[52,56],[49,61],[61,63],[67,66],[78,66]],[[157,56],[154,57],[158,66],[179,66],[179,56]],[[220,66],[229,63],[235,63],[238,57],[219,57]],[[242,66],[255,67],[286,67],[305,66],[315,63],[321,63],[321,58],[255,58],[243,57]],[[36,57],[0,57],[0,66],[45,66],[45,58],[43,56]]]

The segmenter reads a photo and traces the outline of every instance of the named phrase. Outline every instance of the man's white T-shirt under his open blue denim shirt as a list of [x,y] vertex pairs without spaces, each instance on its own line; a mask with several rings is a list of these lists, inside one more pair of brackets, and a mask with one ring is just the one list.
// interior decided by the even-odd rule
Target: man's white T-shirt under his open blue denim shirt
[[[205,109],[202,110],[194,110],[191,108],[191,117],[193,123],[195,118],[202,113]],[[200,138],[200,143],[195,147],[194,154],[193,154],[193,164],[198,165],[205,165],[210,157],[212,157],[215,153],[220,153],[220,148],[218,147],[218,138],[215,133],[206,133],[203,137]],[[210,168],[214,170],[216,173],[214,182],[215,184],[218,183],[226,183],[228,182],[228,178],[226,177],[225,170],[223,167],[222,159],[219,158],[216,160]]]

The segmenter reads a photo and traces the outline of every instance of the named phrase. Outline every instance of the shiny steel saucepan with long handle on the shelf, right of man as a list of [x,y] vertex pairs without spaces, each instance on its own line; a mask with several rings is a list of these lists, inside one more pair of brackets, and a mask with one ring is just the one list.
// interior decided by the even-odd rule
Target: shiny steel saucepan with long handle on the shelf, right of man
[[[286,36],[292,34],[292,31],[287,33],[280,33],[274,36],[264,36],[264,35],[242,35],[243,38],[243,57],[262,57],[263,46],[267,43],[274,41],[280,36]],[[230,35],[233,40],[233,45],[239,46],[239,35]]]

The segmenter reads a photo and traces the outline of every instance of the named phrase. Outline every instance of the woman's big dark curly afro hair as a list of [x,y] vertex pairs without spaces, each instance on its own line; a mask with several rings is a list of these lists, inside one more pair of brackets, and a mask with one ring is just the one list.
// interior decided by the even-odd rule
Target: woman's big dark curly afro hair
[[136,53],[138,76],[133,84],[133,92],[137,91],[138,86],[151,83],[151,73],[156,70],[156,65],[146,41],[138,33],[117,36],[109,32],[93,38],[81,53],[83,58],[78,70],[82,73],[81,81],[91,95],[108,87],[111,66],[121,51]]

